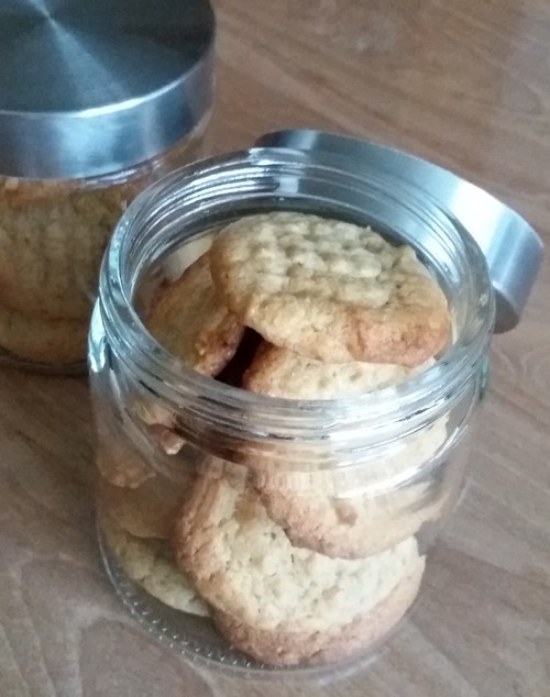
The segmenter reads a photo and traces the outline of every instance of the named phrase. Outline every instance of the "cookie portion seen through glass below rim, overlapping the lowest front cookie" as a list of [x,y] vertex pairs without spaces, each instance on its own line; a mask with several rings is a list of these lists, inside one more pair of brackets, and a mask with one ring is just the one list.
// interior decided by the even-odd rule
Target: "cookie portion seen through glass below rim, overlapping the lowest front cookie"
[[[265,456],[255,463],[252,483],[294,545],[332,557],[361,558],[394,546],[441,516],[448,491],[432,480],[433,475],[428,474],[428,480],[407,479],[446,439],[441,420],[402,440],[392,455],[317,472],[285,472]],[[277,458],[282,456],[279,452]]]

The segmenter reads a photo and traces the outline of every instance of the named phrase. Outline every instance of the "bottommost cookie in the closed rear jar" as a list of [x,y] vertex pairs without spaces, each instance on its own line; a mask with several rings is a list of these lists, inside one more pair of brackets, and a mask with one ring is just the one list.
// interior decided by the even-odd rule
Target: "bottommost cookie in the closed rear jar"
[[48,320],[0,306],[0,347],[19,361],[70,366],[86,359],[88,322]]

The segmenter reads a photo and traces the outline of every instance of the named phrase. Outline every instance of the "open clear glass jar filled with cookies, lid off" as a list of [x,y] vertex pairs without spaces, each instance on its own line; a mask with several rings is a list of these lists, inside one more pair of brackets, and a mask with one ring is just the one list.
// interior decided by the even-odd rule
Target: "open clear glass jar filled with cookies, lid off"
[[[334,400],[186,368],[144,327],[152,290],[228,221],[279,209],[415,246],[447,294],[452,345],[400,385]],[[343,159],[256,148],[141,195],[106,255],[89,344],[98,529],[127,607],[182,653],[246,671],[371,651],[414,604],[461,491],[493,320],[484,257],[455,220]]]

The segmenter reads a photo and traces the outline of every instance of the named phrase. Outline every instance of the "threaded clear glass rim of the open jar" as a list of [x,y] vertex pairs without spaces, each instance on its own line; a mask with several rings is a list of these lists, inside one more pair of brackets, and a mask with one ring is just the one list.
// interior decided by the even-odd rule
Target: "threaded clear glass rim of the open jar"
[[[204,187],[218,187],[222,196],[223,187],[233,182],[235,195],[245,196],[251,190],[246,182],[254,176],[275,180],[289,172],[344,182],[359,191],[374,188],[378,195],[395,196],[396,204],[414,202],[418,210],[429,211],[433,220],[444,226],[468,266],[473,287],[468,290],[471,302],[464,327],[431,367],[405,383],[361,396],[296,400],[253,394],[200,375],[170,355],[148,333],[133,305],[135,277],[143,270],[153,248],[144,242],[144,223],[152,217],[162,220],[170,207],[182,206],[186,197],[190,208],[197,206]],[[274,208],[296,210],[294,199],[285,199],[276,187],[275,191]],[[377,431],[392,420],[407,419],[413,429],[427,419],[437,418],[449,409],[449,400],[461,392],[479,370],[495,316],[493,289],[482,251],[468,231],[425,191],[396,178],[373,178],[346,169],[342,167],[342,158],[330,154],[312,156],[278,147],[255,147],[202,159],[173,172],[142,192],[127,209],[111,237],[101,268],[98,302],[109,344],[118,357],[138,380],[166,399],[176,411],[179,407],[193,409],[207,419],[215,413],[218,421],[226,419],[228,427],[240,423],[244,412],[253,412],[255,428],[261,423],[262,430],[277,432],[282,438],[292,436],[295,427],[300,432],[311,428],[329,434],[343,433],[365,421],[370,429]],[[279,429],[283,421],[286,425]]]

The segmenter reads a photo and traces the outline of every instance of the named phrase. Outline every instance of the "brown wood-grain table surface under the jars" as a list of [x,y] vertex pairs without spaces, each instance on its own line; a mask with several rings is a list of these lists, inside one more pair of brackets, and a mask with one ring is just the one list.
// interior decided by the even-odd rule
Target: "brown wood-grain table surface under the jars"
[[[216,151],[309,126],[468,177],[550,243],[550,3],[219,0]],[[101,568],[84,379],[0,372],[2,697],[549,697],[550,265],[495,336],[465,497],[410,619],[327,679],[188,664],[127,617]]]

